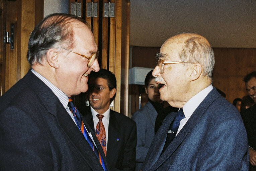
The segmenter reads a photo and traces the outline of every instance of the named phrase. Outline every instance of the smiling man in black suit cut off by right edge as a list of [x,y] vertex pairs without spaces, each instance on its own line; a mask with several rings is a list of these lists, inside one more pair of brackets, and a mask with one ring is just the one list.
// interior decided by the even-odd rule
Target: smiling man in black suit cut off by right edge
[[[247,74],[244,82],[249,96],[256,103],[256,71]],[[242,111],[241,116],[248,136],[250,171],[256,171],[256,104]]]

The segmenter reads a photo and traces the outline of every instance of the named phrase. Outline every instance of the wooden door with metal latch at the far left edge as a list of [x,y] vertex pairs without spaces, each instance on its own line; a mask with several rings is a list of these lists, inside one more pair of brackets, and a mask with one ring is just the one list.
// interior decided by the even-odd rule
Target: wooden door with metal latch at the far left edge
[[[30,68],[26,59],[28,38],[34,26],[43,18],[44,0],[0,0],[0,8],[2,96]],[[13,33],[11,33],[11,29]],[[7,41],[3,42],[7,32],[9,36],[13,35],[12,45]]]

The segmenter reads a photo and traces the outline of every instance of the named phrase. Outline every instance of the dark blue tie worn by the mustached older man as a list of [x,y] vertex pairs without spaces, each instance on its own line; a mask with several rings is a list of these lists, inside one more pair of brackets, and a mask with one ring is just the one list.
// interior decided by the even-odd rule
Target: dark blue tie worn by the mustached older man
[[185,115],[184,115],[183,110],[181,108],[179,110],[179,112],[176,113],[176,116],[175,116],[174,120],[172,121],[172,123],[171,123],[171,125],[168,129],[168,133],[167,133],[167,137],[166,137],[166,141],[165,141],[162,153],[165,151],[165,149],[169,146],[169,144],[172,142],[172,140],[176,136],[177,131],[178,131],[179,126],[180,126],[180,121],[183,118],[185,118]]

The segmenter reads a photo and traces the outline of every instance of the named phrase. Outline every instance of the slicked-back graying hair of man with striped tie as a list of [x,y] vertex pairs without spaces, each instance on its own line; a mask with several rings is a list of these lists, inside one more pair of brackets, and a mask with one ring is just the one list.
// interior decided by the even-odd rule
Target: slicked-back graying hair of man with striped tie
[[30,65],[41,64],[50,48],[72,48],[73,29],[70,25],[74,21],[81,21],[90,28],[81,17],[71,14],[55,13],[40,21],[29,36],[27,61]]

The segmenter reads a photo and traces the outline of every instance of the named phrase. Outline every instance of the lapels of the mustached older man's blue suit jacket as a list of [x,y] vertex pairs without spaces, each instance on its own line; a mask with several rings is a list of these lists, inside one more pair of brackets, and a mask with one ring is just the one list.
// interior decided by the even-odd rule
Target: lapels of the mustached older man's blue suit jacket
[[[167,147],[165,152],[158,158],[158,160],[155,162],[155,164],[152,166],[151,170],[157,169],[161,164],[163,164],[178,148],[178,146],[183,142],[187,134],[194,128],[194,125],[197,124],[197,122],[200,120],[202,115],[205,113],[205,111],[208,109],[209,105],[215,101],[217,98],[219,98],[220,95],[218,95],[218,92],[214,88],[207,96],[206,98],[201,102],[201,104],[196,108],[196,110],[193,112],[187,123],[184,125],[184,127],[181,129],[179,134],[173,139],[173,141],[170,143],[170,145]],[[167,116],[169,119],[169,122],[164,122],[164,126],[161,126],[160,128],[163,128],[160,132],[164,132],[168,130],[170,123],[174,119],[173,117]],[[168,125],[169,124],[169,125]],[[167,129],[166,129],[167,128]],[[160,138],[162,146],[165,143],[167,134],[164,134],[165,136],[162,136]],[[163,144],[162,144],[163,143]],[[163,147],[161,146],[160,152],[162,152]],[[159,147],[160,148],[160,147]],[[159,152],[158,152],[159,153]],[[156,156],[159,154],[157,153]],[[154,153],[153,153],[154,154]]]

